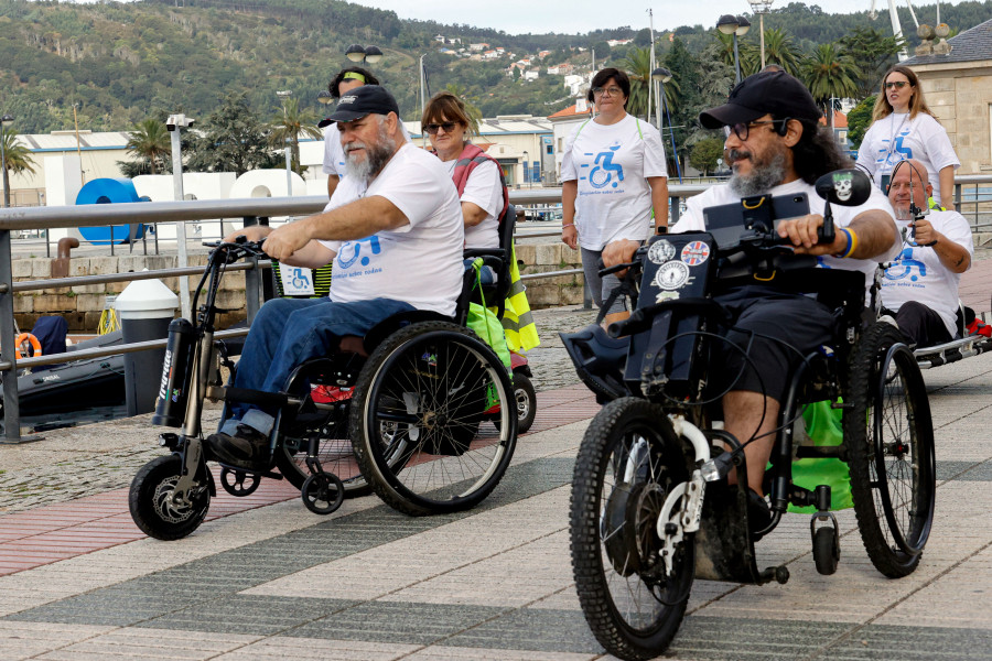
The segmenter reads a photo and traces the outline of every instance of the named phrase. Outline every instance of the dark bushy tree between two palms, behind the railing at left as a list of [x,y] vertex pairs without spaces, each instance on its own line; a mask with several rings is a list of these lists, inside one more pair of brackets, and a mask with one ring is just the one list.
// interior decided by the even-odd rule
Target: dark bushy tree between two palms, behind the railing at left
[[186,167],[191,172],[235,172],[278,166],[269,149],[265,122],[248,106],[248,93],[231,93],[192,139]]

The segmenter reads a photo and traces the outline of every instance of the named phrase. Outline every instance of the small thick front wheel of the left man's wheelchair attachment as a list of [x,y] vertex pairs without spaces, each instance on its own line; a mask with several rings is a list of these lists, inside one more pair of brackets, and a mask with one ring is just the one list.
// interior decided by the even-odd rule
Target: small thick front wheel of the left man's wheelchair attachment
[[148,537],[165,541],[177,540],[203,523],[211,507],[206,476],[197,479],[190,502],[179,503],[173,500],[173,496],[182,469],[179,455],[165,455],[142,466],[131,481],[128,495],[131,518]]

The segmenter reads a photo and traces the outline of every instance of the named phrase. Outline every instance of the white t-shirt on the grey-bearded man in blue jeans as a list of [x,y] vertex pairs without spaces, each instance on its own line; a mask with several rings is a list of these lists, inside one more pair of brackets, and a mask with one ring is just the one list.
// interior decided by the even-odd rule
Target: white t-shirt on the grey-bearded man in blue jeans
[[410,224],[355,241],[321,241],[337,253],[331,300],[395,299],[453,315],[465,231],[457,191],[441,161],[408,142],[367,188],[344,177],[324,210],[374,195],[395,204]]

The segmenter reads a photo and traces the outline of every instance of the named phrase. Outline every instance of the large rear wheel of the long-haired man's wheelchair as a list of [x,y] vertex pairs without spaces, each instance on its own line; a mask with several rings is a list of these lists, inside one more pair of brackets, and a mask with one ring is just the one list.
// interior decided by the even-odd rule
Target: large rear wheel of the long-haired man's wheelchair
[[926,386],[902,334],[870,327],[850,366],[844,444],[861,539],[872,564],[912,573],[934,521],[936,459]]

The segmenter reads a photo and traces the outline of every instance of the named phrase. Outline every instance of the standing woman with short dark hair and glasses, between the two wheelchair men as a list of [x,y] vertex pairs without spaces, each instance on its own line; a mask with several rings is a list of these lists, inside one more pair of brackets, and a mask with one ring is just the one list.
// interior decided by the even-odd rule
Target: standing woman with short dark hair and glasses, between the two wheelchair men
[[[656,231],[668,225],[665,145],[655,127],[627,115],[629,96],[627,74],[599,72],[589,90],[596,116],[569,137],[561,161],[561,240],[581,248],[585,282],[601,308],[619,286],[616,275],[600,279],[603,248],[618,239],[645,240],[653,217]],[[623,296],[613,299],[606,323],[629,314]]]

